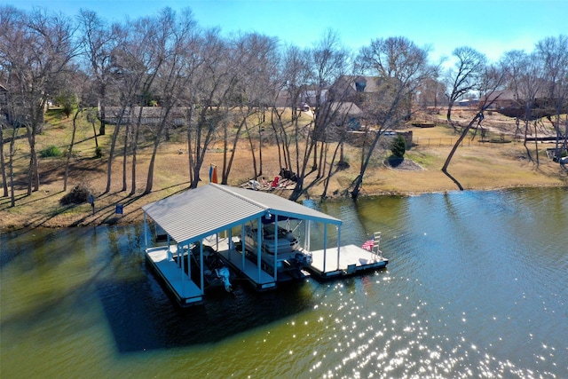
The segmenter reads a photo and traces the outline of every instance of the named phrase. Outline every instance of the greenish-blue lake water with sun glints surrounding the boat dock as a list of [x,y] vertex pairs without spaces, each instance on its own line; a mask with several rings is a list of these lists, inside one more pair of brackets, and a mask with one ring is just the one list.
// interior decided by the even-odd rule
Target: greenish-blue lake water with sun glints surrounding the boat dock
[[0,377],[568,377],[566,188],[307,205],[388,268],[182,310],[142,225],[3,233]]

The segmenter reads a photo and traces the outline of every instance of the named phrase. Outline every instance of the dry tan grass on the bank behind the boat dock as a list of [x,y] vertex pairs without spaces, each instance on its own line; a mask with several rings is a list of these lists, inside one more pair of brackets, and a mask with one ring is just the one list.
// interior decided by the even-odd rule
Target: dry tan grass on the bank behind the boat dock
[[[53,126],[37,138],[38,150],[50,145],[62,146],[63,150],[66,148],[65,144],[70,141],[71,121],[59,119],[59,116],[53,115],[50,122]],[[501,123],[505,122],[506,120]],[[457,138],[454,132],[444,126],[428,129],[411,127],[410,130],[413,130],[414,140],[418,141],[418,146],[409,150],[406,157],[420,164],[424,170],[391,170],[383,165],[386,154],[377,155],[367,170],[361,190],[362,195],[415,194],[457,189],[454,183],[440,170],[451,149],[450,143],[453,143],[451,140],[455,141]],[[108,128],[106,136],[99,137],[99,145],[103,146],[103,152],[108,151],[112,131],[112,128]],[[31,196],[26,195],[24,185],[28,164],[27,142],[24,138],[20,138],[16,142],[17,152],[14,161],[14,171],[19,173],[16,177],[16,207],[10,208],[9,198],[0,199],[0,212],[2,213],[0,228],[2,230],[28,226],[97,225],[139,221],[142,217],[141,206],[162,199],[172,193],[184,191],[189,186],[187,154],[180,154],[180,151],[185,151],[186,146],[181,140],[164,143],[160,147],[155,162],[153,192],[145,196],[142,196],[141,193],[146,189],[147,167],[152,153],[150,146],[138,151],[136,193],[134,195],[128,194],[131,187],[130,162],[127,165],[129,190],[121,192],[122,157],[114,160],[111,191],[103,193],[106,188],[107,161],[105,157],[102,159],[93,158],[94,139],[92,138],[91,125],[83,123],[79,128],[76,140],[79,142],[74,148],[75,158],[72,160],[67,191],[78,184],[91,188],[96,196],[95,215],[91,214],[89,204],[69,207],[59,205],[59,199],[65,194],[63,192],[65,158],[41,159],[40,190],[32,193]],[[209,178],[209,163],[217,164],[219,170],[223,166],[223,153],[220,152],[219,147],[219,145],[214,146],[207,154],[205,167],[201,170],[203,183],[206,183]],[[332,153],[332,151],[328,153],[329,158],[331,158]],[[351,167],[348,170],[335,173],[330,180],[328,195],[343,195],[357,177],[360,162],[359,149],[347,146],[345,154],[351,163]],[[264,146],[264,177],[272,178],[279,172],[277,147]],[[542,152],[540,165],[537,167],[533,162],[526,159],[525,147],[522,143],[517,142],[481,144],[475,140],[466,143],[454,155],[449,166],[449,172],[466,189],[566,186],[568,184],[568,176],[565,170],[562,170],[556,163],[549,161]],[[235,153],[229,184],[240,186],[253,175],[250,149],[247,141],[243,139]],[[319,197],[323,191],[323,182],[315,180],[315,175],[315,173],[312,173],[306,178],[305,183],[309,186],[309,190],[305,196]],[[276,193],[287,197],[290,191],[278,190]],[[115,214],[116,204],[124,206],[123,215]]]

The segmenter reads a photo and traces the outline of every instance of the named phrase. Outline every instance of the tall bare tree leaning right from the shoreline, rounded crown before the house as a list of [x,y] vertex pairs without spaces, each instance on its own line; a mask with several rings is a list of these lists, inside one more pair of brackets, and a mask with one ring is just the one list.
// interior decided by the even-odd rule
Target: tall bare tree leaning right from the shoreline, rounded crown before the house
[[373,138],[353,183],[351,197],[357,199],[368,163],[386,130],[395,128],[410,112],[410,95],[425,80],[436,75],[437,67],[428,64],[428,51],[406,37],[376,39],[361,49],[359,65],[376,75],[378,91],[366,99],[367,117],[375,125]]

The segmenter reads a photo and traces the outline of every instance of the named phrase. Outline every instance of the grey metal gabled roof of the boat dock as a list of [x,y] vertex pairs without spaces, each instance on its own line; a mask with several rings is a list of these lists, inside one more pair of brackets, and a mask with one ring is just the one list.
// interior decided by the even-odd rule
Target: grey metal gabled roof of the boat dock
[[208,184],[142,207],[177,241],[190,243],[259,217],[294,217],[341,225],[342,221],[272,193]]

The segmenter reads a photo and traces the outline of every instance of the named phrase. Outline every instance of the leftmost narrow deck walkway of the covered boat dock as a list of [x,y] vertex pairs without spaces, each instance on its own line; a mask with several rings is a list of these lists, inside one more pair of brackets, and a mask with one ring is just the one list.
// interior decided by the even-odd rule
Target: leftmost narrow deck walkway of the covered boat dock
[[154,268],[154,272],[162,278],[163,282],[176,297],[181,306],[203,303],[203,291],[187,276],[181,268],[177,267],[172,255],[176,254],[176,247],[162,246],[146,249],[146,262]]

